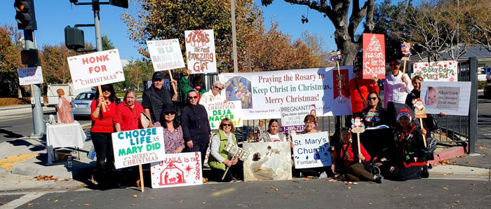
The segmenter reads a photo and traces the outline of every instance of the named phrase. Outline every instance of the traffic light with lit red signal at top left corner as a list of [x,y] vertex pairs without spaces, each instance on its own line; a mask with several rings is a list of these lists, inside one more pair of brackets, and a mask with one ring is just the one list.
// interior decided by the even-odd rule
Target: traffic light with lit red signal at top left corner
[[15,20],[19,29],[37,29],[34,0],[15,0]]

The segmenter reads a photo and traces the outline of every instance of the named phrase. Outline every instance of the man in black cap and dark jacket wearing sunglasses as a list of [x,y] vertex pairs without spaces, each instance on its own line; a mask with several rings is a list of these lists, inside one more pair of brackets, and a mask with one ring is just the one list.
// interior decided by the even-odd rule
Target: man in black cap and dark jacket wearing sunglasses
[[[177,81],[174,80],[171,86],[176,85]],[[173,101],[177,101],[177,95],[173,93],[173,90],[163,86],[163,73],[155,72],[152,76],[152,86],[143,92],[142,98],[144,112],[152,119],[149,128],[154,126],[154,122],[161,121],[162,109],[170,105],[173,106]]]

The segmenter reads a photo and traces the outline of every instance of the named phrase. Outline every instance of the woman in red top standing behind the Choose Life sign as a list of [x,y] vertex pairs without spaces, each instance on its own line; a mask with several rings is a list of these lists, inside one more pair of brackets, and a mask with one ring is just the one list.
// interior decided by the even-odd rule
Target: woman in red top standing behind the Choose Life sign
[[133,88],[126,90],[124,102],[116,106],[116,112],[114,113],[116,132],[142,128],[139,126],[142,112],[142,104],[136,102],[135,90]]

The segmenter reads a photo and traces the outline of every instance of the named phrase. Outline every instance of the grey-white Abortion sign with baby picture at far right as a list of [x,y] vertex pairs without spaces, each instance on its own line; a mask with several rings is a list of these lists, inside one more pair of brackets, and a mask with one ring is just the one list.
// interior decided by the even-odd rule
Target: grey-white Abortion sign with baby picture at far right
[[426,103],[427,114],[443,112],[468,116],[471,100],[470,81],[423,81],[420,98]]

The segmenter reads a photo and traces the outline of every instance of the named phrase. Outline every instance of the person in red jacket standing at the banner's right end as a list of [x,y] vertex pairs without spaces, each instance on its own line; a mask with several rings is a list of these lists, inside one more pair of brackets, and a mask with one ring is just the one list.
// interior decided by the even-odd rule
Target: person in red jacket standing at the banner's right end
[[360,66],[353,67],[355,78],[348,82],[348,85],[341,83],[342,94],[345,97],[351,99],[351,113],[356,114],[361,112],[366,106],[368,106],[367,96],[370,92],[379,93],[379,86],[377,85],[377,77],[373,79],[363,79]]

